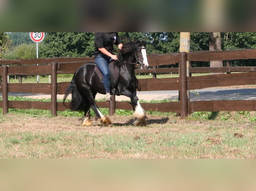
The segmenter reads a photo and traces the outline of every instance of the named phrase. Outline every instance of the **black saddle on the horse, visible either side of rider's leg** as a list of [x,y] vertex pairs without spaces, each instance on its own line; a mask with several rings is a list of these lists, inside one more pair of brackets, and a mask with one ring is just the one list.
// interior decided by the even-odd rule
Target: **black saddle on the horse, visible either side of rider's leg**
[[[109,63],[109,72],[110,72],[110,82],[111,82],[111,89],[112,94],[117,95],[117,91],[115,89],[115,86],[117,84],[117,81],[119,79],[119,67],[114,64],[114,62]],[[97,65],[94,68],[94,72],[99,76],[101,83],[103,83],[103,74],[101,73],[100,69],[97,67]]]

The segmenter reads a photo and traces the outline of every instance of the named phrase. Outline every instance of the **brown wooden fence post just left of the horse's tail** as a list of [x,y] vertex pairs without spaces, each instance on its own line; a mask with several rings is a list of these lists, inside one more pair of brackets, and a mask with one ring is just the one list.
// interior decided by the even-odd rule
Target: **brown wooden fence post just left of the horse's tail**
[[51,64],[51,115],[57,116],[57,63]]

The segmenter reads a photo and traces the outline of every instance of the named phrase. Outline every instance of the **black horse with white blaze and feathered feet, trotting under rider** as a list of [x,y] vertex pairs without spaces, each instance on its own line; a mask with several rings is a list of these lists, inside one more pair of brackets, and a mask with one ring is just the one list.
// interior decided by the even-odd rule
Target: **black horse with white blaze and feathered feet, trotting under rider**
[[[142,69],[148,67],[145,42],[143,40],[123,44],[122,49],[118,52],[118,60],[109,64],[111,81],[115,81],[112,82],[112,94],[130,97],[134,110],[134,125],[146,125],[145,111],[140,106],[139,99],[136,96],[138,86],[134,74],[136,65],[139,65]],[[71,109],[84,111],[82,125],[85,126],[93,125],[90,119],[91,107],[95,112],[96,118],[100,118],[103,126],[111,123],[111,120],[100,112],[95,102],[97,93],[106,94],[105,87],[99,77],[101,75],[97,74],[99,73],[97,71],[95,63],[86,63],[81,66],[75,72],[63,98],[64,103],[68,95],[72,94]]]

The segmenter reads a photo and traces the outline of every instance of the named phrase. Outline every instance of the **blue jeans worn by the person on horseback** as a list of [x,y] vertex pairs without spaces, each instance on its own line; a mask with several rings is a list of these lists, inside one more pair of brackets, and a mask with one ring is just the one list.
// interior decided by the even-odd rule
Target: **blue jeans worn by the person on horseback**
[[108,64],[110,62],[110,57],[104,54],[98,54],[95,58],[95,62],[97,67],[100,69],[103,74],[103,84],[105,86],[106,93],[111,92],[111,82],[110,82],[110,72],[108,68]]

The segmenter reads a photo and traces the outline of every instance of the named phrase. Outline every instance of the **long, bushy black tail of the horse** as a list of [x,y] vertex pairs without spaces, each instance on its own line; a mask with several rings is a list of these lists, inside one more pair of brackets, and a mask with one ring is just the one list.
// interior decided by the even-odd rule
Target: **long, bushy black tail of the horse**
[[66,94],[63,97],[63,104],[66,106],[65,104],[65,100],[67,99],[68,95],[71,94],[72,98],[71,98],[71,110],[73,111],[80,111],[80,110],[84,110],[85,107],[85,101],[82,97],[82,95],[80,94],[77,85],[75,83],[75,75],[72,78],[72,81],[70,83],[70,85],[68,86],[67,90],[66,90]]

